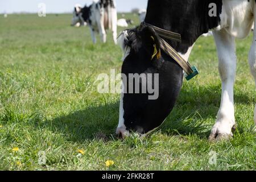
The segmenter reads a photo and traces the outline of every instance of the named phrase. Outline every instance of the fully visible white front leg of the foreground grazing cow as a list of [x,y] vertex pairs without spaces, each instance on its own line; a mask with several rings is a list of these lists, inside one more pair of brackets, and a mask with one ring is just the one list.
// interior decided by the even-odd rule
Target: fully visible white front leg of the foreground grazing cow
[[209,139],[220,140],[232,137],[236,126],[234,118],[234,81],[236,77],[236,43],[225,30],[214,31],[218,51],[219,72],[222,81],[221,105]]

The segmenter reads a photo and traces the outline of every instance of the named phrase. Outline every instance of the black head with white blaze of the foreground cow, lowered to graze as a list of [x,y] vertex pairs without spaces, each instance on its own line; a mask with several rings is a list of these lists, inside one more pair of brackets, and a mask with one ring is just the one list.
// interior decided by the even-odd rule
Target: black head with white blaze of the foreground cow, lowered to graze
[[[124,51],[122,75],[125,79],[122,77],[117,134],[122,137],[129,136],[130,131],[148,134],[159,127],[173,109],[183,82],[183,70],[160,51],[158,35],[150,27],[123,31],[118,43]],[[131,77],[136,73],[140,75],[139,93],[135,78]]]

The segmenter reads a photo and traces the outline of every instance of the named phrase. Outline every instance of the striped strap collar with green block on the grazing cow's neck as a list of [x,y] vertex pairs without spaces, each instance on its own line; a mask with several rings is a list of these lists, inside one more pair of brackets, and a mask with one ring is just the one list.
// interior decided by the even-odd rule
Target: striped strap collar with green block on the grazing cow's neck
[[[181,42],[181,35],[180,34],[164,30],[162,28],[153,26],[152,24],[149,24],[149,23],[146,23],[146,22],[142,22],[140,28],[142,28],[144,26],[151,27],[156,32],[156,34],[159,35],[160,49],[162,49],[162,51],[167,53],[167,55],[172,57],[177,62],[177,64],[180,65],[180,67],[186,73],[186,76],[185,76],[186,80],[191,80],[193,77],[195,77],[196,75],[199,74],[199,71],[197,70],[197,68],[195,66],[191,67],[191,65],[187,61],[185,61],[183,59],[183,57],[181,57],[179,55],[179,53],[177,51],[175,51],[175,49],[172,48],[170,46],[170,44],[168,44],[163,39],[163,38],[165,38],[165,39],[168,39],[168,40],[174,40],[174,41],[177,41],[177,42]],[[154,38],[153,38],[153,40],[154,40]],[[155,56],[157,56],[158,59],[160,58],[160,50],[157,51],[156,46],[154,46],[154,54],[153,54],[152,58],[154,58]]]

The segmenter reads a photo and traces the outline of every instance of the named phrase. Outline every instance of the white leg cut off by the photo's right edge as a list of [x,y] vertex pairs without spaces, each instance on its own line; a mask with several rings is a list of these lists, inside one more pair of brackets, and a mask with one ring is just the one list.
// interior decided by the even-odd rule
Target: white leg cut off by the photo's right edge
[[[254,30],[256,30],[256,23],[254,23]],[[253,43],[251,45],[251,49],[249,53],[249,64],[251,68],[251,74],[255,79],[255,85],[256,85],[256,31],[253,32]],[[254,109],[254,123],[256,126],[256,105]],[[256,127],[255,127],[255,132],[256,132]]]

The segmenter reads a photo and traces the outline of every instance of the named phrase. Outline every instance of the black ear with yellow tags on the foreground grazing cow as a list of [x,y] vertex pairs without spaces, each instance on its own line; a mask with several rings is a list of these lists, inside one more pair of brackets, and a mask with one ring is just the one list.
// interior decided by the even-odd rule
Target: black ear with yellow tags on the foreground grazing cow
[[146,44],[147,47],[149,47],[151,51],[152,58],[156,57],[157,59],[160,59],[161,51],[160,51],[160,42],[158,35],[151,27],[144,27],[141,30],[141,38],[143,41],[143,44]]

